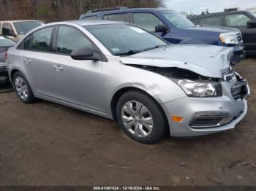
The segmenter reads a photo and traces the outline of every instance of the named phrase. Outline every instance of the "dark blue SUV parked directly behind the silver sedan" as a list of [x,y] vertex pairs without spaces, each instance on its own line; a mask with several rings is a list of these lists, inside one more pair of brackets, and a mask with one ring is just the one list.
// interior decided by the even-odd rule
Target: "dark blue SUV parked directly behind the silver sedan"
[[187,17],[169,9],[127,7],[99,9],[80,15],[80,20],[117,20],[133,23],[173,44],[233,47],[234,56],[231,65],[238,63],[245,56],[243,39],[238,29],[195,26]]

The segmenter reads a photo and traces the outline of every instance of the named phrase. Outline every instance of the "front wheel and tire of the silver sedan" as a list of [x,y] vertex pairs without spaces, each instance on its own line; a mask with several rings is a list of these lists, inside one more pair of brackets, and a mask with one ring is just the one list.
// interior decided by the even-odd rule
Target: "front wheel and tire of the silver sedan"
[[153,144],[165,136],[165,114],[157,101],[146,93],[132,90],[121,95],[116,106],[116,115],[121,128],[135,141]]

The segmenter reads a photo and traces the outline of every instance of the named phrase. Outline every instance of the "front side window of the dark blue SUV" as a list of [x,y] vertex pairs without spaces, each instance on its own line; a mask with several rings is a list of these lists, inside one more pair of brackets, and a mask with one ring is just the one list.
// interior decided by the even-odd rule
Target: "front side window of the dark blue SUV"
[[151,13],[133,13],[133,23],[147,31],[154,32],[156,26],[162,25],[162,21]]

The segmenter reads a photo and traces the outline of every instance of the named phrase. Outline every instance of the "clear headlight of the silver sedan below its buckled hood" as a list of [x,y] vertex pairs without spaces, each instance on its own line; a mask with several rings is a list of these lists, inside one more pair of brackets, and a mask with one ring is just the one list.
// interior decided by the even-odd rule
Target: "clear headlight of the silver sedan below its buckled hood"
[[199,82],[189,79],[178,79],[177,83],[189,97],[222,96],[222,85],[219,82]]

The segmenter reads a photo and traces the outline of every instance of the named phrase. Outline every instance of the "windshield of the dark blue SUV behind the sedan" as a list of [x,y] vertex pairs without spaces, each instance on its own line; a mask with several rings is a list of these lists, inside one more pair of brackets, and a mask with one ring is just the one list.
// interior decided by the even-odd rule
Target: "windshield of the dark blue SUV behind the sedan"
[[190,20],[188,20],[187,17],[184,17],[178,12],[161,11],[161,13],[165,18],[167,18],[167,20],[169,20],[170,23],[173,24],[173,26],[176,26],[177,28],[195,27],[195,25]]

